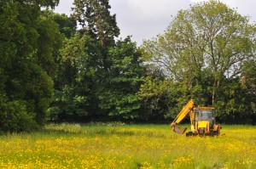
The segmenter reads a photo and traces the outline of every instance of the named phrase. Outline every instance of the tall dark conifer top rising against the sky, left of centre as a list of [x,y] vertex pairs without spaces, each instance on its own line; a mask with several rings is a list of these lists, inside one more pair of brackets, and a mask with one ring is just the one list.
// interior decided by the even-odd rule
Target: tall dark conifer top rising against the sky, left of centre
[[108,47],[114,44],[114,37],[119,36],[115,14],[111,15],[108,0],[75,0],[73,17],[82,25],[80,31],[88,34],[101,45],[102,56],[98,64],[108,75]]

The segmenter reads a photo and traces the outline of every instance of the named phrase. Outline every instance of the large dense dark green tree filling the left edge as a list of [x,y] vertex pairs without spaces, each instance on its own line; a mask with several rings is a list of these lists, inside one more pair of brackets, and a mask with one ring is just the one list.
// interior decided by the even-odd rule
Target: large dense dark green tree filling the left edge
[[0,2],[0,130],[28,131],[44,124],[61,36],[40,7],[58,1]]

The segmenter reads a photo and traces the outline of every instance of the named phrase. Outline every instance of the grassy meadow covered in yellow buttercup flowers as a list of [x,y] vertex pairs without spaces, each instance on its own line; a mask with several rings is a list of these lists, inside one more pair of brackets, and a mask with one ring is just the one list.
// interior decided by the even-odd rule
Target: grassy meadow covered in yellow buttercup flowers
[[48,125],[0,136],[0,168],[256,168],[256,127],[221,132],[186,138],[168,125]]

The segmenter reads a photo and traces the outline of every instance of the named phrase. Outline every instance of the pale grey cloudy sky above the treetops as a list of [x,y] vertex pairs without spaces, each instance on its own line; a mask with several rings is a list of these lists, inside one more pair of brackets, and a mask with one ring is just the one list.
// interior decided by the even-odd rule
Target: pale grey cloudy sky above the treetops
[[[172,21],[172,16],[190,4],[207,0],[109,0],[111,14],[116,14],[121,38],[131,36],[132,41],[142,44],[162,34]],[[256,23],[255,0],[220,0],[230,8],[236,8],[241,15],[248,15],[251,23]],[[73,0],[60,0],[55,12],[71,14]]]

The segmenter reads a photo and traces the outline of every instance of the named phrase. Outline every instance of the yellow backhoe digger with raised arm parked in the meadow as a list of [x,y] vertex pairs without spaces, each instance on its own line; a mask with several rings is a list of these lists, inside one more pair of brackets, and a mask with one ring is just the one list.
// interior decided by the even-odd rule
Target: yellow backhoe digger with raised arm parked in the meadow
[[187,132],[186,136],[218,136],[220,134],[220,124],[216,124],[216,110],[213,107],[196,106],[193,99],[186,104],[178,113],[177,117],[172,121],[171,127],[174,132],[183,134],[187,128],[179,128],[177,124],[183,121],[189,114],[191,122],[191,132]]

